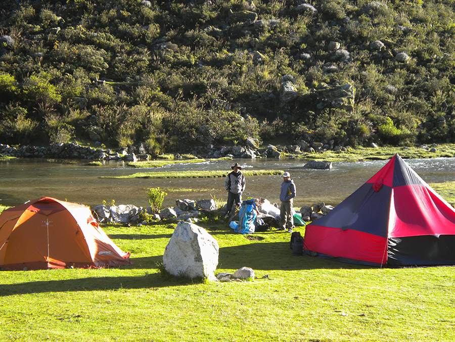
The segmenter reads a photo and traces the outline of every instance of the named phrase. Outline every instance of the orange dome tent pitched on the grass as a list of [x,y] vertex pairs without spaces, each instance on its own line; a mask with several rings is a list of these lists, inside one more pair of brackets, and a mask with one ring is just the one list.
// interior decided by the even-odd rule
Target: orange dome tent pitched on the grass
[[86,206],[50,197],[0,215],[0,268],[101,268],[131,265]]

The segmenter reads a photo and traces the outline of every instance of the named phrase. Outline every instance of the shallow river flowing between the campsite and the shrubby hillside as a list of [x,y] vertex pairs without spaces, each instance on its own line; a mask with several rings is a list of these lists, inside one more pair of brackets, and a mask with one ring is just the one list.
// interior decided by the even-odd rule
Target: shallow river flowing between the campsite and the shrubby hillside
[[[455,158],[405,160],[427,183],[455,180]],[[0,204],[16,206],[44,196],[96,206],[103,201],[148,206],[146,189],[166,189],[163,207],[174,206],[176,199],[226,200],[223,178],[183,179],[113,179],[136,172],[157,171],[231,171],[235,162],[247,170],[284,170],[291,173],[297,188],[294,206],[311,206],[325,202],[337,205],[370,179],[387,161],[334,162],[332,170],[304,168],[306,163],[290,159],[238,159],[207,161],[196,164],[172,164],[161,168],[137,169],[124,162],[106,161],[102,166],[88,166],[87,161],[48,161],[13,159],[0,161]],[[281,176],[248,176],[246,197],[266,198],[279,202]]]

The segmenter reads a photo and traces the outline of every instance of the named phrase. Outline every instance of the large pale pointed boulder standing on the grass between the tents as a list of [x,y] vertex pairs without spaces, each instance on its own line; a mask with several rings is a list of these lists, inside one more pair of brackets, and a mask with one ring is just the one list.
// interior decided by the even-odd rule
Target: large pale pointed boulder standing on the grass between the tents
[[218,253],[218,242],[204,228],[180,221],[164,251],[164,269],[174,276],[215,280]]

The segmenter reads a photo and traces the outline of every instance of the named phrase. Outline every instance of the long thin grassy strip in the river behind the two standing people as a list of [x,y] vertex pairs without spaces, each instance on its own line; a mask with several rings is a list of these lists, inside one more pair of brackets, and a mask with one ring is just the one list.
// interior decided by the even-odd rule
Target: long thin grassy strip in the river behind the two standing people
[[[244,170],[245,176],[282,175],[283,170]],[[214,178],[225,177],[226,171],[171,171],[171,172],[138,172],[126,176],[103,176],[101,178]]]

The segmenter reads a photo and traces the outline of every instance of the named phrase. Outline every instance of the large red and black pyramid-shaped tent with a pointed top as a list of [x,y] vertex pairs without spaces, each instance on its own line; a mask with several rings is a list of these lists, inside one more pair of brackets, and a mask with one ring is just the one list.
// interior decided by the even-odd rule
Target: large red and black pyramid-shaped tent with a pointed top
[[304,251],[365,265],[455,264],[455,210],[395,155],[329,214],[306,226]]

